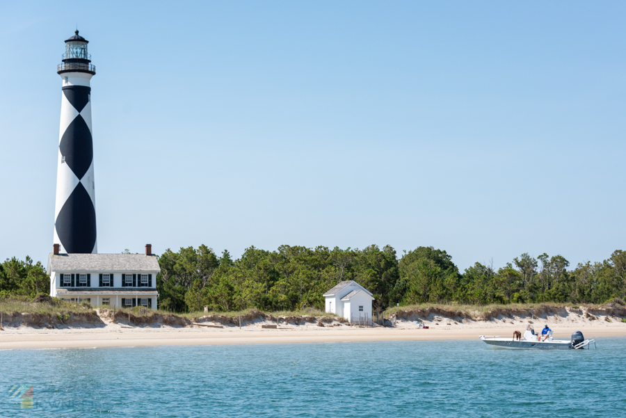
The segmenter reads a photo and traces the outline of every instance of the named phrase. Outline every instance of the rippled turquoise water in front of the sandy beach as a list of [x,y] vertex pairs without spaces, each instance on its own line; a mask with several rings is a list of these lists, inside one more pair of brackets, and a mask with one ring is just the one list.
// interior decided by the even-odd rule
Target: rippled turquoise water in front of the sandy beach
[[626,417],[626,338],[0,351],[0,417]]

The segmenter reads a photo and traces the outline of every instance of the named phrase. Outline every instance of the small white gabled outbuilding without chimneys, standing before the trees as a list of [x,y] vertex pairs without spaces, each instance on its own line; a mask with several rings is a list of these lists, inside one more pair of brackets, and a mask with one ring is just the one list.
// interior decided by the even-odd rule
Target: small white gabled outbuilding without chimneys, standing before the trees
[[340,282],[323,296],[326,298],[326,312],[343,316],[350,322],[371,320],[371,302],[374,298],[370,291],[354,280]]

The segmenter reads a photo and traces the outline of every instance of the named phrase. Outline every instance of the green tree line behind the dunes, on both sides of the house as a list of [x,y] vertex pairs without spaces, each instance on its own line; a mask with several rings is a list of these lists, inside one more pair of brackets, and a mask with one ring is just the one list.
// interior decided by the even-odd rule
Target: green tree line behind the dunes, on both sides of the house
[[[356,280],[374,294],[374,308],[415,303],[605,303],[626,296],[626,252],[570,268],[561,255],[515,257],[495,269],[476,263],[463,273],[444,250],[419,247],[401,257],[390,246],[359,249],[280,246],[247,248],[239,259],[207,246],[168,249],[159,257],[159,307],[173,312],[257,308],[323,309],[325,291]],[[0,296],[49,291],[39,262],[13,257],[0,264]]]

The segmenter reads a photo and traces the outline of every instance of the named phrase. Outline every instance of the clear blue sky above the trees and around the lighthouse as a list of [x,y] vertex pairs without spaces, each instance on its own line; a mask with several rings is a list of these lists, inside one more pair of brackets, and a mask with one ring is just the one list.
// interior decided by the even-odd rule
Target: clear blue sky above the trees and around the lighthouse
[[63,40],[99,252],[625,249],[626,3],[0,3],[0,259],[51,251]]

